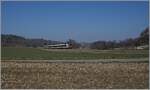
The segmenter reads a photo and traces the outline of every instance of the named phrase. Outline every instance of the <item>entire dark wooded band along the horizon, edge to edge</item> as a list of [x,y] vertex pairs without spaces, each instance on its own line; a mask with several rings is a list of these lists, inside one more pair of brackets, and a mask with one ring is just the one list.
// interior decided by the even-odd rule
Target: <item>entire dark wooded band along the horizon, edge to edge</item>
[[121,41],[95,41],[92,43],[78,43],[72,39],[69,39],[66,42],[45,39],[28,39],[12,34],[1,34],[1,45],[5,47],[43,47],[44,45],[59,43],[68,43],[72,48],[91,48],[100,50],[133,48],[142,45],[149,45],[149,28],[143,30],[137,38],[127,38]]

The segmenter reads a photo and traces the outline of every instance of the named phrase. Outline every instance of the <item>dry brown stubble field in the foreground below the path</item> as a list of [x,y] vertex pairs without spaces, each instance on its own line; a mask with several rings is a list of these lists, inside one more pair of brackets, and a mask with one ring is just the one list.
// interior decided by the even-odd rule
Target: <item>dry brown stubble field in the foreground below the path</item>
[[2,88],[148,88],[148,63],[2,62]]

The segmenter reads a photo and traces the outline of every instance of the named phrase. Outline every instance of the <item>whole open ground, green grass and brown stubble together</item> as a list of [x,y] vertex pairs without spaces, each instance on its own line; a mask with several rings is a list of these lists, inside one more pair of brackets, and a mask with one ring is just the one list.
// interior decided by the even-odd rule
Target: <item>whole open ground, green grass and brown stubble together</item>
[[148,89],[148,50],[2,47],[3,89]]

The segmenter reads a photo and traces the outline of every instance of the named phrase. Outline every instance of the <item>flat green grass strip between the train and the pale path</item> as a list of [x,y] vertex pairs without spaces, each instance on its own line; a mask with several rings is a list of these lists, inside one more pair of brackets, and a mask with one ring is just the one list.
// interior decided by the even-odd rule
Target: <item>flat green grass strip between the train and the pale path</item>
[[[94,51],[93,51],[94,52]],[[127,59],[148,58],[148,50],[117,50],[93,52],[67,52],[45,51],[35,48],[2,47],[2,60],[4,59]]]

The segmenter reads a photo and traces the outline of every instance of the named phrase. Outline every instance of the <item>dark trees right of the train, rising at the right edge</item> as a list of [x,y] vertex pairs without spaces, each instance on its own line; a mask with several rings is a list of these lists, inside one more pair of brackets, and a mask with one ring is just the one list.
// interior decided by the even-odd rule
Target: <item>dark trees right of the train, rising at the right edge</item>
[[93,49],[134,48],[149,45],[149,28],[143,30],[137,38],[127,38],[122,41],[96,41],[91,43]]

